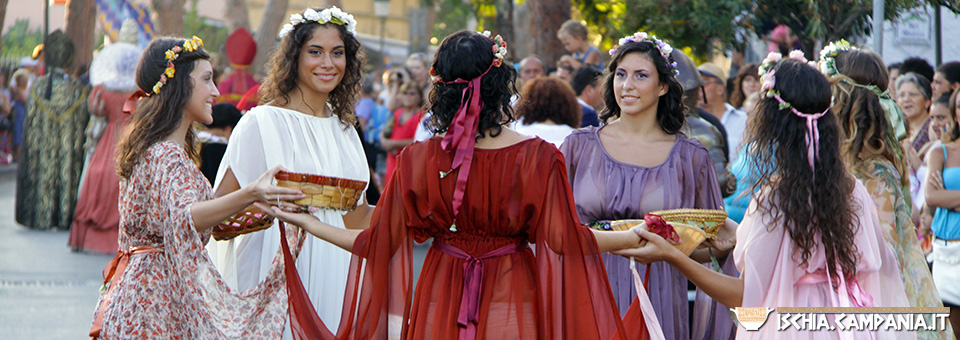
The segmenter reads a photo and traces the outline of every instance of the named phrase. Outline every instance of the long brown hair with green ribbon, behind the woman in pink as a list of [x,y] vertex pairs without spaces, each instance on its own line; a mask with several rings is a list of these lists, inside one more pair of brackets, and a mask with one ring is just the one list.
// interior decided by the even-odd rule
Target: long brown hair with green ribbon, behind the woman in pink
[[[872,85],[880,92],[887,89],[889,74],[883,59],[867,50],[852,49],[837,54],[836,66],[839,74],[830,78],[831,110],[837,115],[843,132],[842,154],[847,165],[859,173],[867,173],[865,161],[886,159],[900,173],[900,184],[909,184],[903,147],[897,142],[880,98],[864,88]],[[862,158],[864,152],[868,158]]]

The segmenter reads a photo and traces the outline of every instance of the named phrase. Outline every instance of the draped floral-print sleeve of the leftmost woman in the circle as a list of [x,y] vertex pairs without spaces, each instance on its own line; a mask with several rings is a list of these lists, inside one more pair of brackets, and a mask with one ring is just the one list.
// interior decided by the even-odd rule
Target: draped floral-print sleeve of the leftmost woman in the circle
[[[210,199],[199,169],[184,157],[167,161],[161,167],[162,180],[157,188],[160,202],[165,205],[163,218],[167,225],[163,231],[163,253],[172,263],[171,276],[179,277],[180,287],[170,287],[183,292],[183,305],[198,310],[207,317],[183,320],[192,324],[192,329],[204,329],[218,338],[279,338],[287,318],[287,291],[283,262],[275,256],[270,274],[255,288],[232,291],[221,279],[210,261],[203,243],[209,232],[198,234],[194,228],[190,208],[193,204]],[[289,228],[287,242],[294,256],[303,244],[304,233],[299,228]],[[278,253],[279,255],[279,253]]]

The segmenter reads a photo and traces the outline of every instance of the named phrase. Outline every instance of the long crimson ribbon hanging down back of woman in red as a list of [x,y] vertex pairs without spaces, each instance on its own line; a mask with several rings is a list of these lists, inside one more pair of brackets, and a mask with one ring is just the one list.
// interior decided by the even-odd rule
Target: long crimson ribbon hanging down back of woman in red
[[458,78],[454,81],[439,82],[447,85],[467,84],[467,87],[463,89],[460,108],[453,117],[453,122],[450,123],[447,135],[440,142],[443,151],[455,151],[453,161],[450,163],[450,171],[441,171],[441,177],[446,176],[454,169],[460,168],[460,173],[457,174],[457,184],[453,190],[454,225],[451,226],[452,231],[456,231],[456,218],[460,212],[460,207],[463,205],[467,178],[470,177],[470,164],[473,163],[473,150],[477,144],[477,124],[480,118],[480,110],[483,109],[483,102],[480,101],[480,80],[487,75],[487,72],[490,72],[491,68],[493,68],[493,63],[487,67],[486,71],[470,81]]

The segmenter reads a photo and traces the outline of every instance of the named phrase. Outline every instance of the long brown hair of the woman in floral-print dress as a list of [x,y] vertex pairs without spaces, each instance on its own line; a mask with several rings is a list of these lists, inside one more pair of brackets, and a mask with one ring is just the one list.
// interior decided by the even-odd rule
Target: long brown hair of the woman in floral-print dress
[[[153,85],[167,68],[165,53],[174,46],[183,46],[181,38],[157,38],[147,45],[137,65],[137,87],[146,93],[152,93]],[[133,168],[140,162],[143,154],[153,144],[174,133],[183,121],[183,107],[193,94],[193,72],[199,60],[210,60],[203,48],[193,52],[181,51],[173,62],[176,74],[168,78],[160,93],[152,93],[137,103],[130,122],[117,144],[117,174],[120,178],[130,178]],[[200,148],[193,129],[187,130],[186,151],[195,163],[200,162]]]

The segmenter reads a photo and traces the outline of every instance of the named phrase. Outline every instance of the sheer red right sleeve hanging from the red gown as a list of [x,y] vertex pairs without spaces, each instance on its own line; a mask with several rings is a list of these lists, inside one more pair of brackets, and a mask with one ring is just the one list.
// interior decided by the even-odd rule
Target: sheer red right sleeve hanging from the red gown
[[[566,143],[564,143],[566,145]],[[563,155],[542,165],[545,182],[526,185],[542,200],[531,221],[536,242],[541,339],[644,339],[640,315],[621,322],[592,232],[580,224]],[[625,324],[633,327],[628,330]]]

